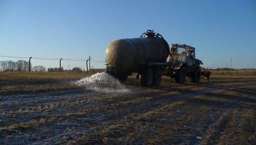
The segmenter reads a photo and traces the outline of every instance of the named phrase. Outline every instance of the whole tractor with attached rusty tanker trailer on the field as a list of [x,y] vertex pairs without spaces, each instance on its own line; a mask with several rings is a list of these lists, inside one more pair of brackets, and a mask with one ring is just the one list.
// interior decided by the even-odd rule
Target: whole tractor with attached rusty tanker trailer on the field
[[210,72],[200,67],[202,61],[195,58],[195,48],[189,45],[169,44],[153,30],[139,38],[116,39],[106,48],[105,73],[125,81],[137,73],[140,85],[159,86],[162,76],[176,83],[184,83],[185,77],[199,83],[201,75],[209,80]]

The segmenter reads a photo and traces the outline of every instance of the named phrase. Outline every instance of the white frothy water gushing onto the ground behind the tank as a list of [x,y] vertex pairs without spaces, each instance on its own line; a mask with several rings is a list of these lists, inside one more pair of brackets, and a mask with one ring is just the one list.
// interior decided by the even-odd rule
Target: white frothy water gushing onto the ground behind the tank
[[104,92],[127,92],[128,90],[116,78],[106,73],[97,73],[91,77],[82,78],[75,84],[85,86],[87,89]]

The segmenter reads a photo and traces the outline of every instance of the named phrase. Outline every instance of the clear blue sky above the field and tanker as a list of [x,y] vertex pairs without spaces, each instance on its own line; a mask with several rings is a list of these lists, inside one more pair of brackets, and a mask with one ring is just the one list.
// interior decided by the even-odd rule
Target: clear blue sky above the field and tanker
[[[0,0],[0,56],[105,61],[107,45],[148,29],[188,44],[204,67],[256,68],[256,1]],[[0,57],[0,61],[27,58]],[[27,59],[28,60],[28,59]],[[59,60],[31,60],[59,67]],[[94,68],[105,68],[92,62]],[[62,61],[65,69],[85,61]]]

